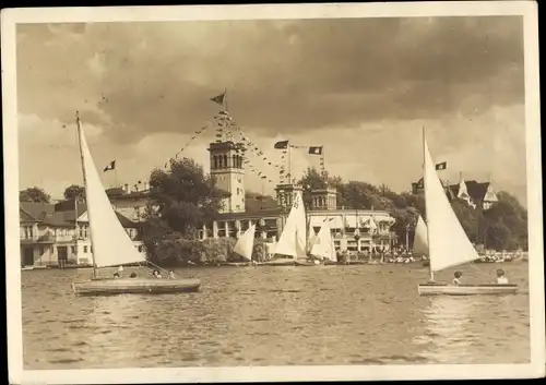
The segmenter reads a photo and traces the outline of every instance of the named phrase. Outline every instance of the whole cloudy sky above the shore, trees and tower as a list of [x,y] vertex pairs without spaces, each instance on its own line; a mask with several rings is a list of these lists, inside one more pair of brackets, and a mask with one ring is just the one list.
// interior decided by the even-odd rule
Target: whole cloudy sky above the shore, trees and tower
[[[324,145],[331,173],[400,192],[419,177],[425,127],[442,178],[490,179],[525,201],[518,16],[35,24],[17,26],[16,49],[21,188],[60,196],[81,183],[76,109],[97,167],[116,158],[118,182],[133,184],[207,124],[227,88],[273,163],[278,140]],[[207,169],[214,134],[183,155]],[[319,159],[293,160],[299,177]],[[247,190],[272,189],[248,173]]]

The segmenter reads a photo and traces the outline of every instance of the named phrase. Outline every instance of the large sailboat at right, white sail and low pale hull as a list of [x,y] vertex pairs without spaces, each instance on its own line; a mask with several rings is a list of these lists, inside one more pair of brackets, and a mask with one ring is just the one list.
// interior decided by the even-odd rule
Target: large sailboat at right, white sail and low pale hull
[[517,285],[448,285],[435,281],[434,274],[436,272],[478,260],[479,254],[456,218],[443,185],[436,173],[425,130],[423,130],[423,151],[430,279],[429,282],[418,286],[419,294],[468,296],[515,292]]

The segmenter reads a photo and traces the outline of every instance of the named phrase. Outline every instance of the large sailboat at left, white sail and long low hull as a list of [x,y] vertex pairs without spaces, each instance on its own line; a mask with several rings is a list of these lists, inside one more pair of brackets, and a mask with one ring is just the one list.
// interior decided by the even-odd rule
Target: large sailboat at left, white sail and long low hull
[[100,177],[93,163],[78,112],[76,127],[91,229],[93,278],[90,281],[72,284],[74,293],[81,296],[106,296],[197,291],[200,286],[199,279],[115,279],[114,277],[105,279],[98,277],[99,268],[142,264],[146,260],[136,250],[131,238],[127,234],[106,195]]

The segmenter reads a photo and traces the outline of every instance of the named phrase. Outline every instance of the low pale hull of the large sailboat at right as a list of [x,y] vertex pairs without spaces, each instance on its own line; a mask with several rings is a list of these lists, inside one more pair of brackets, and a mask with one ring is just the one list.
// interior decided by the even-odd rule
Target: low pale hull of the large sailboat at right
[[419,296],[484,296],[484,294],[514,294],[518,285],[446,285],[422,284],[418,286]]

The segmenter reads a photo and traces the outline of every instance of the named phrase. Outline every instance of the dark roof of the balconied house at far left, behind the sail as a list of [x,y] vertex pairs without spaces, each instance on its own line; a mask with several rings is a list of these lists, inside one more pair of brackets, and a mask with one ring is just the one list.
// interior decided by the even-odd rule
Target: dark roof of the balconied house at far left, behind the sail
[[[85,214],[87,206],[84,203],[78,203],[78,213],[74,210],[74,200],[62,201],[58,204],[49,203],[20,203],[21,221],[39,221],[51,227],[73,227],[75,217]],[[124,228],[138,228],[139,224],[127,218],[124,215],[115,212],[121,226]]]

